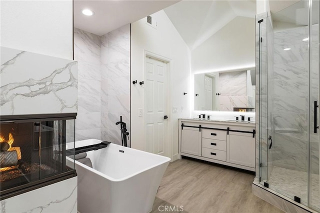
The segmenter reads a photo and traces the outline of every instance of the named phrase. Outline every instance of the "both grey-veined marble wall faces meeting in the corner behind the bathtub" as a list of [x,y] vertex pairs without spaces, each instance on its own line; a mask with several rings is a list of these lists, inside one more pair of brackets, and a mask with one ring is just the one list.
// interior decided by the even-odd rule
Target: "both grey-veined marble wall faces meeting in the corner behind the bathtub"
[[120,115],[130,132],[130,25],[102,36],[75,28],[74,59],[79,63],[75,140],[121,144],[115,125]]

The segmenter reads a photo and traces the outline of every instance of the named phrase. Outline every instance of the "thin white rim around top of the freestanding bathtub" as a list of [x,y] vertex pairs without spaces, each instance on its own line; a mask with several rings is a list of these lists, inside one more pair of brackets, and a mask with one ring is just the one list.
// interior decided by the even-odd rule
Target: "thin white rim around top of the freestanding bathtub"
[[[92,140],[92,139],[86,139],[86,140]],[[99,142],[103,141],[103,140],[98,140],[98,139],[93,139],[93,140],[96,140],[96,141],[99,141]],[[78,140],[78,141],[84,141],[84,140]],[[75,141],[75,143],[76,143],[76,142],[77,142],[77,141]],[[119,147],[122,147],[122,148],[134,149],[134,151],[137,151],[137,152],[143,152],[143,153],[147,153],[147,154],[149,154],[149,155],[154,155],[154,156],[157,156],[157,157],[161,157],[161,158],[163,158],[163,160],[161,160],[160,162],[155,163],[155,164],[153,164],[153,165],[151,165],[151,166],[147,166],[147,167],[145,167],[144,169],[141,169],[141,170],[139,170],[139,171],[133,172],[133,173],[131,173],[131,174],[125,176],[125,177],[121,177],[121,178],[111,177],[111,176],[109,176],[109,175],[107,175],[107,174],[105,174],[105,173],[103,173],[103,172],[101,172],[101,171],[98,171],[98,170],[96,170],[96,169],[94,169],[94,168],[91,168],[90,166],[87,166],[87,165],[85,165],[85,164],[83,164],[83,163],[81,163],[81,162],[79,162],[79,161],[77,161],[77,160],[74,160],[74,162],[75,162],[76,164],[78,164],[79,166],[82,166],[82,167],[86,168],[87,170],[92,171],[92,172],[94,172],[94,173],[96,173],[96,174],[98,174],[98,175],[100,175],[100,176],[102,176],[102,177],[104,177],[104,178],[106,178],[106,179],[109,179],[109,180],[114,181],[114,182],[120,182],[120,181],[126,180],[126,179],[128,179],[128,178],[130,178],[130,177],[132,177],[132,176],[135,176],[135,175],[137,175],[137,174],[139,174],[139,173],[142,173],[142,172],[144,172],[144,171],[146,171],[146,170],[149,170],[149,169],[151,169],[151,168],[154,168],[154,167],[156,167],[156,166],[159,166],[159,165],[161,165],[161,164],[164,164],[164,163],[166,163],[166,162],[169,162],[169,161],[171,160],[171,158],[169,158],[169,157],[167,157],[167,156],[162,156],[162,155],[150,153],[150,152],[147,152],[147,151],[141,151],[141,150],[139,150],[139,149],[135,149],[135,148],[131,148],[131,147],[125,147],[125,146],[122,146],[122,145],[119,145],[119,144],[115,144],[115,143],[112,143],[112,142],[111,142],[110,144],[113,144],[113,145],[116,145],[116,146],[119,146]],[[106,147],[106,148],[107,148],[107,147]],[[73,162],[73,159],[70,158],[70,157],[68,157],[68,156],[66,156],[66,159],[68,159],[68,160],[70,160],[70,161]]]

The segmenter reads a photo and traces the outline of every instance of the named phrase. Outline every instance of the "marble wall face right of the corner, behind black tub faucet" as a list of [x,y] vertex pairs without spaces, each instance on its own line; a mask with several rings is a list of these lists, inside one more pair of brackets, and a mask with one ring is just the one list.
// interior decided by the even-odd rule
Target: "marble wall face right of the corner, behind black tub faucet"
[[130,133],[130,24],[101,36],[101,139],[121,144],[120,116]]

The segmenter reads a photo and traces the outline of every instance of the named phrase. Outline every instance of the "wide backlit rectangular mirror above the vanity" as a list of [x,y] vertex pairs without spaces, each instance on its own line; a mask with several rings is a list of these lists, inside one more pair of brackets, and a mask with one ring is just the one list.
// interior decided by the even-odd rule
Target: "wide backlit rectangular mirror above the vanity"
[[254,111],[255,67],[194,74],[194,110]]

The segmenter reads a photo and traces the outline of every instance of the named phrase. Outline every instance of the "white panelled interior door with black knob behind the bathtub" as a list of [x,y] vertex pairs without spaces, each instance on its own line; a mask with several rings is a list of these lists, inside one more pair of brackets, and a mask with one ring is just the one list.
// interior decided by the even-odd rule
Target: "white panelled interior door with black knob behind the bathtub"
[[167,156],[166,73],[167,63],[145,57],[145,151]]

